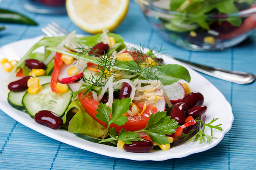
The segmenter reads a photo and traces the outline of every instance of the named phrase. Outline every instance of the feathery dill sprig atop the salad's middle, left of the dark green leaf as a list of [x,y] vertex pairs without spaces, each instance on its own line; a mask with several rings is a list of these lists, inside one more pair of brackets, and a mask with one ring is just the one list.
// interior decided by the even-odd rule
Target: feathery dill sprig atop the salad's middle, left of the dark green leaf
[[[79,49],[81,51],[79,51],[79,55],[81,54],[85,54],[90,52],[91,48],[84,48],[83,46],[79,47]],[[95,51],[94,51],[95,53]],[[108,78],[110,76],[114,76],[113,81],[117,81],[118,76],[117,74],[117,70],[113,70],[113,66],[115,65],[115,55],[113,55],[113,52],[110,53],[109,51],[107,52],[107,54],[100,56],[97,58],[97,64],[96,66],[92,65],[93,68],[96,68],[98,70],[100,70],[99,74],[94,74],[91,72],[91,75],[89,78],[86,78],[85,76],[83,76],[83,84],[84,84],[84,88],[80,89],[79,91],[73,92],[73,98],[75,98],[81,91],[86,90],[83,93],[83,97],[85,95],[88,95],[88,92],[92,91],[92,89],[96,88],[96,87],[104,87],[105,84],[108,81]]]

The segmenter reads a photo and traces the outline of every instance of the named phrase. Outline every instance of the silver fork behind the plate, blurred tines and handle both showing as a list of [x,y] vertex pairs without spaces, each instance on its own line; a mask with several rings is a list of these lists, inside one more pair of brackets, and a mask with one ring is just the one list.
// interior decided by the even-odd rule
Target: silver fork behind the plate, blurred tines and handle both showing
[[[43,33],[45,33],[49,37],[64,36],[64,35],[70,34],[67,30],[65,30],[64,28],[62,28],[61,26],[59,26],[53,21],[51,21],[50,24],[47,24],[47,26],[45,26],[44,28],[41,28],[41,31],[43,31]],[[208,74],[210,76],[213,76],[219,79],[230,81],[232,83],[248,84],[248,83],[252,83],[255,80],[255,76],[247,72],[223,70],[221,68],[208,67],[205,65],[200,65],[200,64],[192,63],[182,59],[178,59],[173,57],[172,55],[168,55],[168,54],[164,54],[164,55],[167,55],[168,57],[171,57],[177,61],[180,61],[181,63],[192,68],[193,70],[202,72],[204,74]]]

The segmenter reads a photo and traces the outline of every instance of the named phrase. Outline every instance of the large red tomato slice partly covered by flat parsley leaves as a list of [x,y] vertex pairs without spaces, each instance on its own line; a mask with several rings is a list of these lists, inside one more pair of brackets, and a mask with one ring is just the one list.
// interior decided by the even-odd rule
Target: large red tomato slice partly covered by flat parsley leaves
[[[95,116],[95,114],[98,114],[96,109],[98,108],[99,102],[96,102],[92,98],[87,98],[87,96],[83,97],[83,93],[85,91],[82,91],[78,94],[78,98],[85,111],[92,117],[94,120],[96,120],[99,124],[102,126],[107,127],[107,124],[102,122],[101,120],[98,120]],[[89,96],[92,95],[91,92],[88,93]],[[136,104],[139,108],[139,111],[141,112],[143,110],[143,102],[139,102]],[[126,129],[126,131],[138,131],[147,126],[147,122],[149,121],[149,116],[151,114],[155,114],[157,112],[155,105],[147,105],[145,111],[141,116],[127,116],[128,120],[127,122],[122,126],[117,126],[116,124],[111,124],[110,128],[115,127],[115,130],[117,132],[120,132],[122,128]]]

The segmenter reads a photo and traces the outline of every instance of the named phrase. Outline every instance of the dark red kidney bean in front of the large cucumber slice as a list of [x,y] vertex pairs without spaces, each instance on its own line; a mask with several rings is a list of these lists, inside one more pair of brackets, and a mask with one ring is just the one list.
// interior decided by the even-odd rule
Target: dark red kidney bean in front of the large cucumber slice
[[52,129],[59,129],[63,125],[63,120],[60,116],[47,110],[42,110],[36,113],[34,119],[38,124]]

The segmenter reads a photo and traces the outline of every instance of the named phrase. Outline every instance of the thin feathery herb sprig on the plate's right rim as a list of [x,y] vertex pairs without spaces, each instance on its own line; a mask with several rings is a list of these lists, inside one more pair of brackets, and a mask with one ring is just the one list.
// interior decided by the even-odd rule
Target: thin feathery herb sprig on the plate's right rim
[[[208,124],[205,124],[203,121],[202,121],[202,118],[200,117],[200,120],[196,120],[196,122],[200,122],[199,124],[198,124],[198,127],[196,127],[196,129],[193,129],[193,130],[191,130],[191,131],[189,131],[189,133],[187,133],[187,134],[184,134],[184,133],[182,133],[182,136],[180,136],[180,137],[177,137],[177,139],[181,139],[181,138],[184,138],[184,139],[182,139],[181,140],[181,142],[183,142],[183,141],[185,141],[186,139],[188,139],[188,137],[190,137],[190,135],[191,134],[193,134],[193,133],[195,133],[196,132],[196,135],[194,135],[193,137],[191,137],[187,142],[186,142],[186,144],[188,143],[188,142],[190,142],[190,141],[193,141],[193,142],[196,142],[196,141],[198,141],[198,140],[200,140],[200,142],[199,142],[199,144],[201,144],[202,142],[205,142],[205,138],[204,137],[206,137],[207,138],[207,143],[210,143],[211,142],[211,138],[213,139],[217,139],[216,137],[213,137],[213,129],[218,129],[218,130],[220,130],[220,131],[223,131],[223,129],[221,128],[221,127],[219,127],[219,126],[221,126],[222,124],[218,124],[218,125],[216,125],[216,126],[213,126],[213,125],[211,125],[213,122],[215,122],[216,120],[218,120],[218,118],[213,118],[213,120],[210,122],[210,123],[208,123]],[[201,130],[201,124],[203,124],[203,129]],[[205,126],[208,126],[208,127],[210,127],[211,128],[211,136],[210,135],[207,135],[204,131],[205,131]]]

